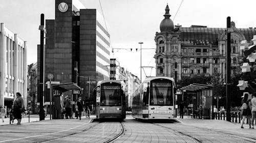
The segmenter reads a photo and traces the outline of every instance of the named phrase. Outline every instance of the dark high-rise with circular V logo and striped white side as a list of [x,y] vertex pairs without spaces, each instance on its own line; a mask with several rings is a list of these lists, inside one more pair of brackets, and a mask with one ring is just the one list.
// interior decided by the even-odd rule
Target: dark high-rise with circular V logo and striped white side
[[[92,97],[97,81],[109,79],[106,65],[110,65],[110,34],[101,14],[77,0],[55,0],[55,19],[46,20],[46,31],[45,81],[52,73],[52,81],[75,82],[77,62],[82,100]],[[38,77],[39,52],[38,46]],[[50,101],[49,92],[45,90],[46,103]]]

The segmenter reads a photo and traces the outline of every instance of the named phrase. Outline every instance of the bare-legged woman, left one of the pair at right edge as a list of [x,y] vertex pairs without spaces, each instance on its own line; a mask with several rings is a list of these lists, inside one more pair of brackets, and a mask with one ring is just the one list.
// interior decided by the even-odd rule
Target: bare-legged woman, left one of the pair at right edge
[[251,128],[251,101],[248,100],[248,94],[244,95],[244,98],[242,100],[242,115],[243,115],[243,119],[241,122],[241,128],[243,127],[244,121],[247,118],[248,122],[249,122],[249,129]]

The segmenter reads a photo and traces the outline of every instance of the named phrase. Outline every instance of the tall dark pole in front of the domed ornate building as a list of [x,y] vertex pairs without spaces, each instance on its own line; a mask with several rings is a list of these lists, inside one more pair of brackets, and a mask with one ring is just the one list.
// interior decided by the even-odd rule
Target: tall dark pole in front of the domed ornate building
[[227,55],[226,55],[226,60],[227,60],[227,75],[226,75],[226,108],[227,108],[227,121],[231,121],[231,113],[230,113],[230,94],[231,94],[231,89],[230,89],[230,51],[231,51],[231,46],[230,46],[230,17],[227,17]]

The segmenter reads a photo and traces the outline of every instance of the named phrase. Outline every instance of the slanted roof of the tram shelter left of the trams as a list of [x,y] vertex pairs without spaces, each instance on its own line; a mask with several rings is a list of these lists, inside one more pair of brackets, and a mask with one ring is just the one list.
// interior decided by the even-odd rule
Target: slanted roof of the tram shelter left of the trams
[[63,83],[63,84],[53,84],[52,88],[54,90],[59,90],[61,92],[71,91],[71,90],[81,90],[81,88],[76,83]]

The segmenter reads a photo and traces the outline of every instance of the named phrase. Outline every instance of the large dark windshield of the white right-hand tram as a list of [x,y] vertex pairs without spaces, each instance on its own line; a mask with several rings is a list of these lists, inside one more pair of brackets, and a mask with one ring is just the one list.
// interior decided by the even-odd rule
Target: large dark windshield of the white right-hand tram
[[172,81],[162,79],[153,80],[150,90],[150,105],[173,106]]

